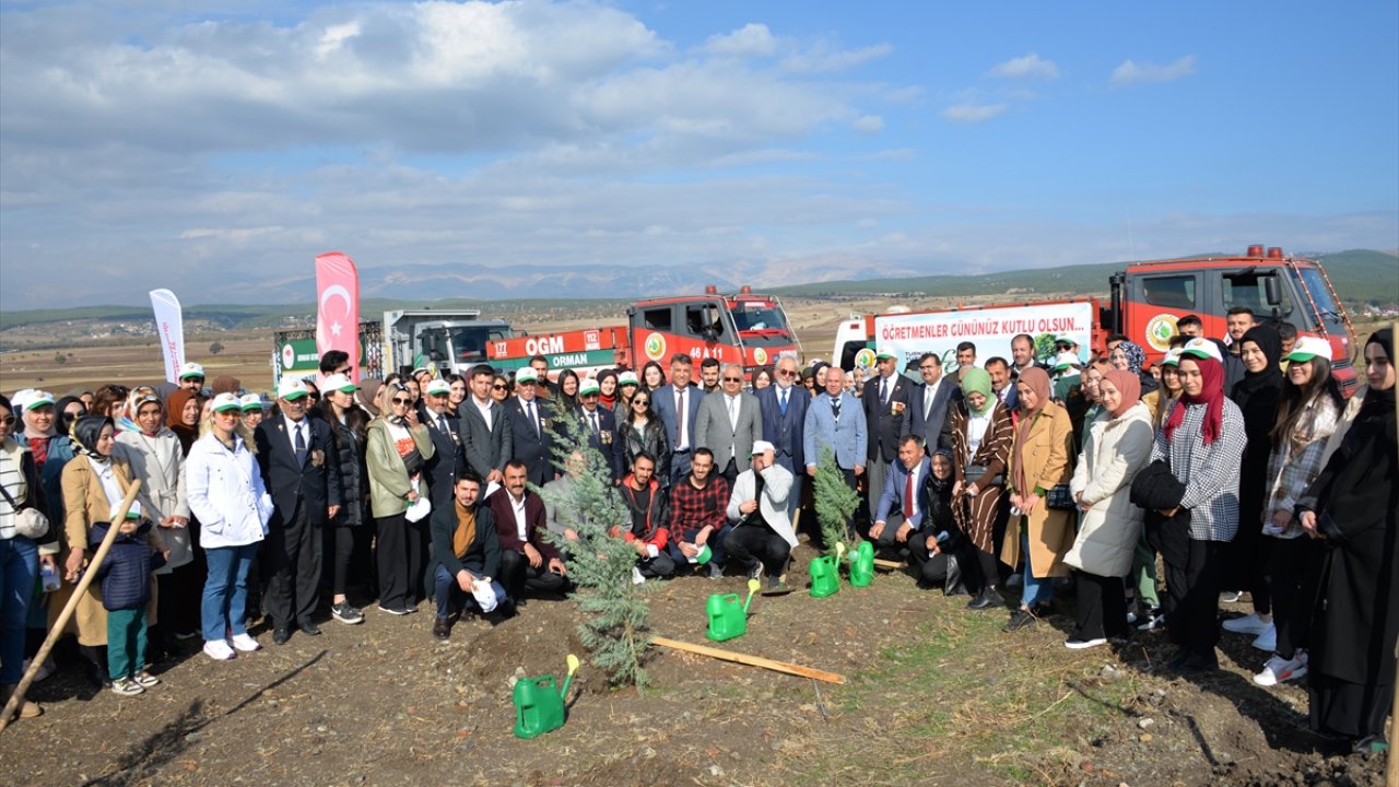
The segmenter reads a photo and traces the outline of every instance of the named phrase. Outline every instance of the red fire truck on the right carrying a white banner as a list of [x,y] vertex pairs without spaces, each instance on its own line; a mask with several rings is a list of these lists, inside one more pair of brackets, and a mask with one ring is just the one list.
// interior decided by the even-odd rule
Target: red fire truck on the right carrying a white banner
[[[1252,245],[1240,256],[1135,262],[1108,281],[1105,304],[1074,298],[853,316],[837,330],[832,357],[853,368],[873,358],[873,350],[891,346],[904,354],[932,350],[950,358],[958,342],[971,340],[983,361],[1010,357],[1014,333],[1030,333],[1044,356],[1052,353],[1055,335],[1072,333],[1087,340],[1079,340],[1086,358],[1090,346],[1101,353],[1109,335],[1123,333],[1157,361],[1179,318],[1193,314],[1206,336],[1223,337],[1228,309],[1248,307],[1265,323],[1287,321],[1300,335],[1330,342],[1337,381],[1346,389],[1356,385],[1356,329],[1316,260]],[[870,351],[860,356],[863,350]]]

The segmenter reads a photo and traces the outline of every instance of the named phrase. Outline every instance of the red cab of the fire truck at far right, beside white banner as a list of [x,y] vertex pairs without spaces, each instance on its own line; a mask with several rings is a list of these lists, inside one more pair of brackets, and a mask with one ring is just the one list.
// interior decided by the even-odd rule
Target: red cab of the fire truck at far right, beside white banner
[[1330,342],[1336,379],[1347,389],[1356,385],[1356,330],[1315,260],[1252,245],[1241,256],[1133,263],[1111,284],[1102,323],[1142,344],[1151,360],[1170,349],[1179,318],[1193,314],[1206,336],[1223,337],[1228,311],[1248,307],[1262,323],[1286,321],[1298,335]]

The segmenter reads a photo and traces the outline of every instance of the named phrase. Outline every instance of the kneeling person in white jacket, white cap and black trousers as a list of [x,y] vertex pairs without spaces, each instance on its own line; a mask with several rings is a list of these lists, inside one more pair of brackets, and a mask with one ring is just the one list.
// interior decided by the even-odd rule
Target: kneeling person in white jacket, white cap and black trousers
[[792,473],[775,464],[772,444],[767,440],[753,444],[750,459],[751,469],[739,473],[733,482],[729,520],[734,525],[723,546],[750,578],[757,578],[760,571],[767,573],[764,594],[792,592],[785,581],[788,557],[796,546],[796,534],[786,513]]

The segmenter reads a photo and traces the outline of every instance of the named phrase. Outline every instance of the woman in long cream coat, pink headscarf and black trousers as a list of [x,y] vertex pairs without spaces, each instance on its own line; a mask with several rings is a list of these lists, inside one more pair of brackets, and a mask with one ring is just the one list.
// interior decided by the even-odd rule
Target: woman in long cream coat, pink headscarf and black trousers
[[1065,647],[1107,644],[1128,633],[1122,577],[1132,570],[1142,510],[1129,499],[1132,479],[1151,457],[1151,413],[1139,401],[1142,381],[1112,370],[1098,384],[1102,412],[1090,424],[1069,492],[1083,521],[1063,562],[1077,570],[1077,626]]

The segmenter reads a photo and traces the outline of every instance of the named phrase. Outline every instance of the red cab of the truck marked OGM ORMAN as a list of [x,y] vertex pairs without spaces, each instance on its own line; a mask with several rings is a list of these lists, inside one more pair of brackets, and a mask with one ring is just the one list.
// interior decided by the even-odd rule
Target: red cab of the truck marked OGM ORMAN
[[800,350],[782,302],[750,287],[723,295],[709,286],[704,295],[638,301],[627,309],[627,322],[635,365],[669,365],[686,353],[695,363],[712,357],[751,372],[776,363],[778,353]]

